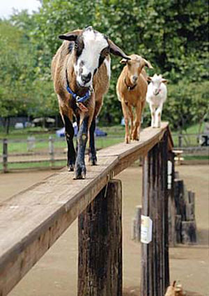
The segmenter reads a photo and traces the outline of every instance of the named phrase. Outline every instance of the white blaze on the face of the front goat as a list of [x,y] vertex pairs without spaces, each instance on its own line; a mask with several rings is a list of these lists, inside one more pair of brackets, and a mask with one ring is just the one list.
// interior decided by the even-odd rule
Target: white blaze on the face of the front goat
[[[77,63],[75,65],[75,73],[77,75],[78,84],[80,86],[88,87],[91,86],[94,71],[98,68],[100,52],[102,51],[102,49],[108,46],[108,42],[101,33],[95,32],[91,29],[87,29],[86,31],[84,31],[83,38],[84,49],[82,51],[82,54],[77,59]],[[79,74],[81,61],[84,62],[84,64],[82,65],[82,75],[88,75],[89,73],[91,73],[91,79],[86,84],[82,80],[82,75]]]

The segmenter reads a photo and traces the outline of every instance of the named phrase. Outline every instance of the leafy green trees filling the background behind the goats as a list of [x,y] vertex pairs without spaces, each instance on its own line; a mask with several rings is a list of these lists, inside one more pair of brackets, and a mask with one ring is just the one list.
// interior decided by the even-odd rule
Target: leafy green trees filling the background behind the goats
[[[0,20],[0,113],[49,116],[58,113],[50,63],[61,45],[57,36],[93,25],[126,54],[148,59],[169,79],[163,119],[174,128],[201,123],[208,112],[208,1],[43,0],[40,11]],[[123,68],[112,57],[111,85],[100,121],[121,122],[116,80]],[[144,122],[150,120],[148,109]]]

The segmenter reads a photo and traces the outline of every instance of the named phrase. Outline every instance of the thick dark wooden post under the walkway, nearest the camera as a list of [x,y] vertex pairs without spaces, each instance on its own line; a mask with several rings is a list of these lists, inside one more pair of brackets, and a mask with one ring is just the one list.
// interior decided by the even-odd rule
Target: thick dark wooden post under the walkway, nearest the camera
[[111,180],[79,216],[78,296],[122,295],[121,212],[121,180]]

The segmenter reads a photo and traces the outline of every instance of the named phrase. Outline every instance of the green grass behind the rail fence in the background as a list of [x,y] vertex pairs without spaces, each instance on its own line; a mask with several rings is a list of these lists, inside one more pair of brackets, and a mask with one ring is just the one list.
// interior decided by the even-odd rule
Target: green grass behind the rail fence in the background
[[[198,131],[198,125],[192,125],[187,129],[187,133],[196,133]],[[95,137],[95,145],[98,149],[106,148],[108,146],[112,146],[116,143],[120,143],[124,141],[125,136],[125,127],[121,125],[115,125],[111,127],[101,127],[104,132],[107,132],[107,137]],[[173,134],[173,141],[174,145],[178,147],[178,137],[177,133],[174,132]],[[0,140],[3,139],[6,135],[0,131]],[[54,152],[55,153],[63,153],[65,148],[67,148],[67,144],[65,139],[59,139],[56,137],[55,132],[46,132],[41,127],[33,127],[33,128],[26,128],[23,130],[11,130],[10,134],[8,135],[8,154],[22,154],[22,153],[29,153],[28,151],[28,144],[26,140],[28,137],[35,137],[35,147],[31,151],[32,153],[49,153],[49,137],[54,139]],[[38,140],[42,141],[38,141]],[[19,141],[18,141],[19,140]],[[21,141],[20,141],[21,140]],[[187,136],[184,135],[183,137],[183,146],[197,146],[198,142],[196,136]],[[75,139],[76,145],[76,139]],[[2,155],[3,145],[2,141],[0,141],[0,155]],[[34,157],[38,157],[35,155]],[[192,156],[184,156],[185,159],[208,159],[207,156],[199,156],[199,155],[192,155]],[[8,164],[8,169],[26,169],[26,168],[38,168],[38,167],[45,167],[49,168],[51,166],[50,162],[37,162],[37,163],[26,163],[26,164]],[[65,161],[62,162],[54,162],[54,166],[65,166]],[[0,164],[0,170],[2,169],[2,164]]]

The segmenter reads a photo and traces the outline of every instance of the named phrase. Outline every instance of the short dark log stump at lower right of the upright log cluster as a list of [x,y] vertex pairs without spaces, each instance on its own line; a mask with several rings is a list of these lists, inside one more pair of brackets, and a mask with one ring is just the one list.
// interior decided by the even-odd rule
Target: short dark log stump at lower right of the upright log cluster
[[182,243],[195,244],[196,243],[196,222],[182,221]]

